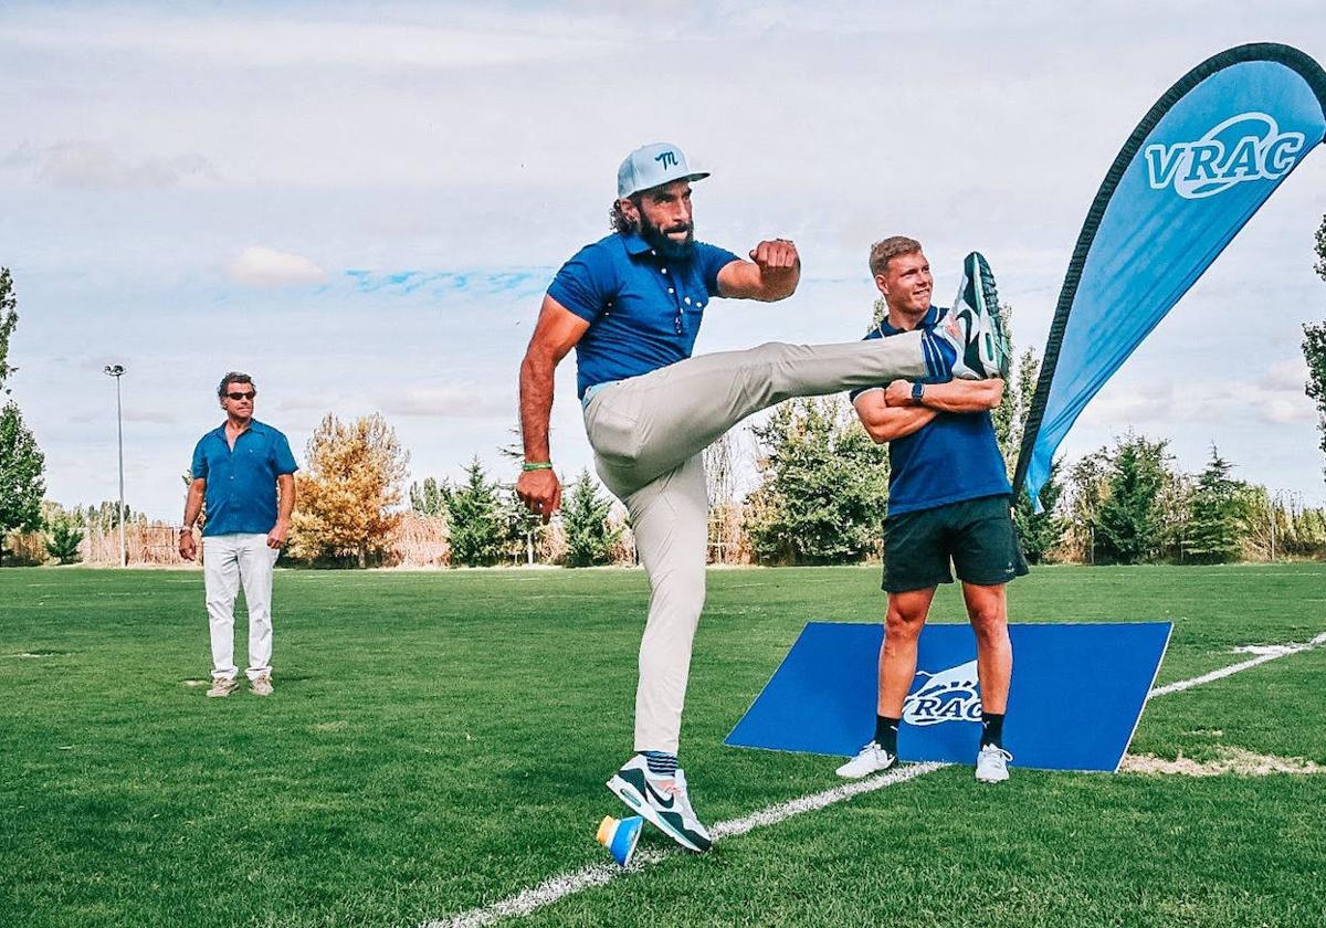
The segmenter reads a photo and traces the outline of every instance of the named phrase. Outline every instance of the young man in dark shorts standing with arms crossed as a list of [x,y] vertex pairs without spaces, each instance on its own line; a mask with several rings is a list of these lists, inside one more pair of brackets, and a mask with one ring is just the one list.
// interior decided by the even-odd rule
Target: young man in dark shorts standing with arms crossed
[[[998,312],[994,277],[979,255],[967,259],[951,310],[931,305],[930,262],[914,239],[895,236],[875,244],[870,270],[888,313],[867,341],[926,331],[953,316]],[[992,337],[1002,342],[997,330]],[[935,384],[898,379],[887,387],[853,392],[866,431],[875,441],[888,443],[883,583],[888,614],[879,651],[875,737],[838,768],[842,777],[865,777],[898,762],[898,725],[916,676],[916,640],[936,586],[953,582],[952,559],[976,631],[981,692],[976,780],[1008,780],[1012,754],[1004,749],[1002,730],[1013,648],[1005,585],[1026,574],[1026,561],[1013,528],[1012,488],[989,415],[1002,395],[1002,379]],[[964,479],[955,483],[953,473]]]

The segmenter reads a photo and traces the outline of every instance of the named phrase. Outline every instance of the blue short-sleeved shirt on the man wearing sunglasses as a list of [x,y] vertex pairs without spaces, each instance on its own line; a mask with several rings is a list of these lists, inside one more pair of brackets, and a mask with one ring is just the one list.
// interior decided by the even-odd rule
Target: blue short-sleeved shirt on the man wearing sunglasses
[[267,534],[276,525],[276,479],[300,465],[281,432],[257,419],[235,439],[225,440],[225,424],[213,428],[194,448],[194,479],[207,481],[204,536]]

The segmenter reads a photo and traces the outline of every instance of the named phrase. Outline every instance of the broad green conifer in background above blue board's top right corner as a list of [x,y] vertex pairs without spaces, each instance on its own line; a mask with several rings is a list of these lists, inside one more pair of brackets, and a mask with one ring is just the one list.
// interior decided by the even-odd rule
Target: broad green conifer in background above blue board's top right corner
[[1172,483],[1166,447],[1130,435],[1119,439],[1109,459],[1106,496],[1095,512],[1097,550],[1106,561],[1142,563],[1152,561],[1163,545],[1162,491]]

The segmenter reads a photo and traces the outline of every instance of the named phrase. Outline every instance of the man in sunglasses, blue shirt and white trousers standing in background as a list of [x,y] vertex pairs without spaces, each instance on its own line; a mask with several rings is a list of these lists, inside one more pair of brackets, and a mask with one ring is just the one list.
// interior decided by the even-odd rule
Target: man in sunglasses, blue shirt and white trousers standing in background
[[207,501],[203,525],[203,578],[212,631],[212,688],[229,696],[239,685],[235,667],[235,599],[240,585],[249,614],[249,687],[272,695],[272,569],[290,532],[294,472],[290,443],[253,418],[257,388],[248,374],[231,371],[216,396],[225,422],[194,448],[192,481],[184,502],[179,553],[196,554],[194,524]]

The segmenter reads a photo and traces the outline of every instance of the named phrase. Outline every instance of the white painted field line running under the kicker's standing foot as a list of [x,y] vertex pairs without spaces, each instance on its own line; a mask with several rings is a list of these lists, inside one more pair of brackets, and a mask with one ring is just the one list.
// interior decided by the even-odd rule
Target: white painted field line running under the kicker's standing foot
[[[1203,673],[1201,676],[1195,676],[1191,680],[1179,680],[1176,683],[1168,683],[1163,687],[1156,687],[1147,695],[1147,700],[1155,699],[1156,696],[1166,696],[1168,693],[1183,692],[1184,689],[1191,689],[1192,687],[1200,687],[1215,680],[1221,680],[1227,676],[1238,673],[1240,671],[1246,671],[1253,667],[1260,667],[1270,660],[1277,660],[1290,654],[1299,654],[1302,651],[1310,651],[1313,648],[1326,644],[1326,632],[1322,632],[1317,638],[1311,639],[1306,644],[1289,644],[1282,650],[1272,654],[1262,654],[1252,660],[1244,660],[1237,664],[1231,664],[1229,667],[1223,667],[1217,671],[1211,671],[1209,673]],[[870,777],[869,780],[858,780],[851,783],[845,783],[823,793],[814,793],[812,795],[804,795],[800,799],[792,799],[790,802],[784,802],[777,806],[769,806],[768,809],[761,809],[757,813],[752,813],[744,818],[733,818],[727,822],[719,822],[711,829],[711,834],[715,841],[723,838],[735,838],[737,835],[744,835],[747,831],[753,831],[754,829],[761,829],[768,825],[777,825],[793,815],[800,815],[801,813],[814,811],[817,809],[823,809],[825,806],[831,806],[835,802],[842,802],[843,799],[850,799],[854,795],[861,795],[863,793],[874,793],[875,790],[883,789],[886,786],[892,786],[894,783],[903,783],[908,780],[915,780],[927,773],[934,773],[940,768],[948,766],[947,764],[908,764],[907,766],[900,766],[890,770],[888,773],[882,773],[878,777]],[[678,854],[684,854],[680,848],[674,850],[655,850],[655,848],[642,848],[635,852],[629,868],[618,867],[615,863],[599,863],[590,867],[583,867],[570,874],[562,874],[560,876],[553,876],[530,890],[522,890],[521,892],[504,899],[492,905],[484,905],[483,908],[472,908],[468,912],[461,912],[452,916],[451,919],[439,919],[435,921],[424,921],[420,928],[479,928],[480,925],[491,925],[495,921],[501,921],[503,919],[518,919],[521,916],[529,915],[530,912],[542,908],[544,905],[550,905],[566,896],[575,895],[583,890],[590,890],[595,886],[605,886],[613,882],[618,876],[626,874],[635,874],[646,867],[650,867],[659,860],[664,860],[670,856]]]

